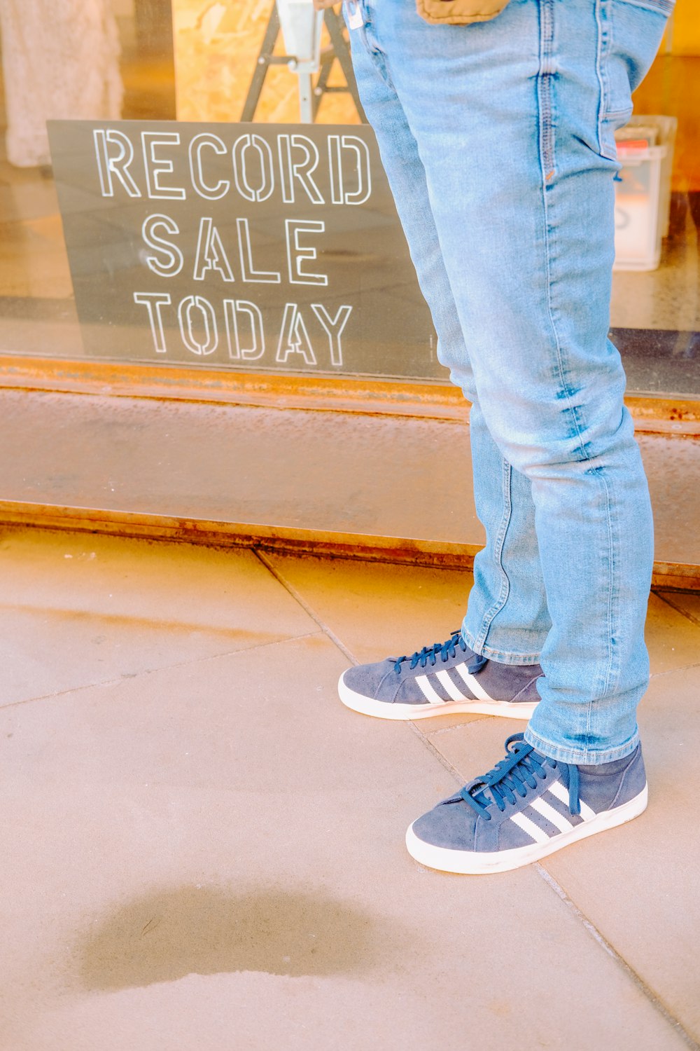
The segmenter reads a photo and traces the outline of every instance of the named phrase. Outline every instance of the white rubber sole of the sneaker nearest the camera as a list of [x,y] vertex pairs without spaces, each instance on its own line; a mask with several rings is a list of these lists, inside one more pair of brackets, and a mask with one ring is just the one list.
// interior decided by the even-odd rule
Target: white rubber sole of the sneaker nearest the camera
[[623,825],[627,821],[638,818],[646,809],[648,789],[643,789],[629,803],[616,806],[614,810],[602,810],[595,818],[576,825],[567,832],[553,836],[548,843],[532,843],[512,850],[497,850],[491,853],[468,850],[450,850],[447,847],[436,847],[420,840],[410,825],[406,832],[408,853],[421,865],[437,868],[441,872],[455,872],[459,875],[484,875],[488,872],[508,872],[522,865],[530,865],[534,861],[547,858],[548,854],[569,846],[577,840],[585,840],[596,832],[604,832],[609,828]]

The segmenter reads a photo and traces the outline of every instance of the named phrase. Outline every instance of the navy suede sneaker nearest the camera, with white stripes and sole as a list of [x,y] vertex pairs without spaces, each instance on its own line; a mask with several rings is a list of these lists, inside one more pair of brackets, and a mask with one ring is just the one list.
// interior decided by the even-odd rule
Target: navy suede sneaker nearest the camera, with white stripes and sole
[[443,872],[505,872],[632,821],[646,807],[646,776],[637,745],[598,766],[555,762],[522,734],[506,758],[406,832],[409,854]]

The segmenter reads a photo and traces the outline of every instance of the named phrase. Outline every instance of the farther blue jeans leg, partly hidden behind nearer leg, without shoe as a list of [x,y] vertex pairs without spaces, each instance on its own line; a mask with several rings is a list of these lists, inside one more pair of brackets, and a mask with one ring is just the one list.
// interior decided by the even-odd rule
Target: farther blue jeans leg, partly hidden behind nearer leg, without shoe
[[[354,38],[353,61],[419,283],[438,332],[438,356],[459,362],[452,376],[472,400],[469,420],[474,500],[486,545],[474,560],[463,637],[476,654],[505,664],[536,664],[551,622],[545,599],[529,480],[504,459],[481,413],[458,308],[416,139],[381,55]],[[459,472],[459,463],[449,470]]]

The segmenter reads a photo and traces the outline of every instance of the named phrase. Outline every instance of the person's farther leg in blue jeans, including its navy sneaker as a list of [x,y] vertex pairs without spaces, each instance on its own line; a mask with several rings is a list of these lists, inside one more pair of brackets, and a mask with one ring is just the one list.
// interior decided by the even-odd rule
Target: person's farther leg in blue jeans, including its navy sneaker
[[[383,67],[364,41],[354,62],[365,108],[438,331],[438,355],[461,363],[460,384],[472,399],[470,435],[474,500],[486,545],[461,633],[411,658],[348,668],[341,700],[382,719],[423,719],[453,712],[528,719],[539,702],[538,655],[551,626],[534,529],[529,480],[513,470],[485,426],[467,375],[467,350],[432,218],[423,163],[406,116]],[[460,465],[449,466],[460,471]]]

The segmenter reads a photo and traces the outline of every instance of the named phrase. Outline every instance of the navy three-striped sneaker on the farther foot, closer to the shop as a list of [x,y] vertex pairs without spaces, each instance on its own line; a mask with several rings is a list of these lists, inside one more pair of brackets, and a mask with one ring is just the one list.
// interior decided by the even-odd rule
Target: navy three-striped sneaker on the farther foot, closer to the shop
[[460,632],[412,657],[349,667],[338,693],[348,708],[379,719],[425,719],[454,712],[529,719],[539,701],[539,664],[479,657]]

